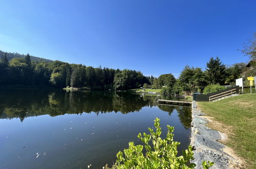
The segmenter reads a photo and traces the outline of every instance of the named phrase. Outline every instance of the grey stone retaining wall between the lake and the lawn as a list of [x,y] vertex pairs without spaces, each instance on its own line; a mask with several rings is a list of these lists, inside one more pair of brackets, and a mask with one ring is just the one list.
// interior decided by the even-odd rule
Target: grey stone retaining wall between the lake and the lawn
[[225,135],[208,128],[205,124],[208,122],[201,110],[197,109],[196,102],[192,103],[192,122],[191,122],[191,145],[194,147],[195,168],[203,168],[203,161],[214,162],[211,168],[234,168],[238,165],[238,160],[223,150],[226,145],[218,142],[225,139]]

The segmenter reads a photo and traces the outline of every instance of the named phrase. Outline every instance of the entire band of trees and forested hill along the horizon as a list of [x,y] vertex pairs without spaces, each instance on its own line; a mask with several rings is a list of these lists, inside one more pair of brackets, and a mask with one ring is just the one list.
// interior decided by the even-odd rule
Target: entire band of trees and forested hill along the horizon
[[[0,51],[0,85],[83,88],[88,90],[128,90],[135,88],[165,88],[166,94],[200,91],[207,85],[235,85],[242,76],[256,76],[256,33],[242,52],[249,56],[251,68],[244,62],[224,65],[219,57],[206,63],[203,70],[186,66],[179,78],[163,74],[158,78],[144,76],[140,71],[93,68],[44,58]],[[254,60],[254,61],[253,61]],[[246,78],[244,78],[246,80]]]

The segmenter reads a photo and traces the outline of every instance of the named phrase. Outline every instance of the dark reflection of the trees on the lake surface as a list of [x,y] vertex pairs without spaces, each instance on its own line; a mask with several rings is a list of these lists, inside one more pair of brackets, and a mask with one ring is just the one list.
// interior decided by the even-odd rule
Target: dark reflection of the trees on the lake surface
[[[65,92],[61,90],[1,90],[0,118],[19,118],[64,114],[110,113],[123,114],[140,111],[143,107],[153,107],[155,97],[125,92]],[[191,123],[190,108],[158,105],[169,115],[176,110],[184,127]]]

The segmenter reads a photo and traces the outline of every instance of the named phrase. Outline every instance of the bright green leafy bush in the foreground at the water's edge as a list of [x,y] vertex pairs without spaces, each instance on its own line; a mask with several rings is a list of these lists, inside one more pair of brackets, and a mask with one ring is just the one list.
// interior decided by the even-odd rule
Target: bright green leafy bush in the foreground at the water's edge
[[[172,126],[167,125],[168,132],[165,139],[160,137],[162,131],[160,128],[160,119],[155,118],[153,129],[148,128],[150,134],[141,133],[137,136],[143,145],[134,145],[129,142],[129,148],[116,154],[117,160],[112,168],[194,168],[194,163],[189,163],[193,159],[192,146],[183,151],[183,155],[177,157],[177,147],[180,142],[173,141]],[[145,155],[143,150],[146,150]],[[204,168],[209,168],[213,162],[202,163]],[[107,165],[103,168],[109,168]]]

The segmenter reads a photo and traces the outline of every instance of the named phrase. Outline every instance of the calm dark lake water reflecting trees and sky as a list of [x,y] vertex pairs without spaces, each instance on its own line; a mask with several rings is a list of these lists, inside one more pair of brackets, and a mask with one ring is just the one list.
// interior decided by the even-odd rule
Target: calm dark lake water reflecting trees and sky
[[[0,168],[102,168],[160,118],[189,145],[191,108],[126,92],[0,89]],[[39,155],[36,158],[36,154]]]

